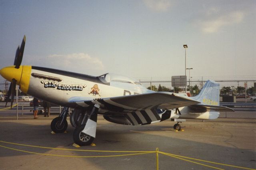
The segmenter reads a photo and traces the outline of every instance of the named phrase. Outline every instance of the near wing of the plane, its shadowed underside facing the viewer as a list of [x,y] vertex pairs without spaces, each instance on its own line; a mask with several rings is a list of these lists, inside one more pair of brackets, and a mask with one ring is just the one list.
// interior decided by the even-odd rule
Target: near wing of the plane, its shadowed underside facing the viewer
[[110,98],[94,99],[93,101],[84,101],[90,105],[90,102],[104,105],[108,110],[143,110],[146,108],[174,109],[184,106],[198,104],[200,102],[187,96],[172,94],[169,92],[155,92],[147,94],[136,94],[128,96],[118,96]]

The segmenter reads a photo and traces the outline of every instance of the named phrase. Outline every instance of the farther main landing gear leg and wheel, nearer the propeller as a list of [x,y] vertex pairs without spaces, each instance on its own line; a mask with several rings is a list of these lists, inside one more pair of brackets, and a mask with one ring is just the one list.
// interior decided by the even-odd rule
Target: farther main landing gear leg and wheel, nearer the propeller
[[55,133],[63,133],[68,128],[67,122],[68,107],[64,107],[59,117],[56,117],[51,122],[51,129]]

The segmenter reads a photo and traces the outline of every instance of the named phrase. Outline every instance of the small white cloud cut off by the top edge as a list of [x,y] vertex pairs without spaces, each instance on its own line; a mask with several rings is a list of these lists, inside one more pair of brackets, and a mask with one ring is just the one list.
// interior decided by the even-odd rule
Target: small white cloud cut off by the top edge
[[166,12],[171,7],[170,0],[143,0],[144,4],[152,11]]

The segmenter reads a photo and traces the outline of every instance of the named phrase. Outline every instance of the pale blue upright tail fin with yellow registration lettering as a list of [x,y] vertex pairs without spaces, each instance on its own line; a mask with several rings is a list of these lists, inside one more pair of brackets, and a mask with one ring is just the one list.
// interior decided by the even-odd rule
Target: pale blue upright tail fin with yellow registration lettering
[[208,80],[201,92],[192,98],[202,104],[220,106],[220,84]]

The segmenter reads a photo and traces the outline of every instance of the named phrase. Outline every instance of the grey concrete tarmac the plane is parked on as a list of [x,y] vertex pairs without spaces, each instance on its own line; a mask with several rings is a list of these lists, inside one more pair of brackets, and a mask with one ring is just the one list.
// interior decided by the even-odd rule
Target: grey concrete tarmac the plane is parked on
[[[106,157],[82,158],[75,156],[107,156],[131,153],[82,152],[54,148],[113,151],[159,151],[229,164],[256,168],[256,120],[225,119],[214,121],[182,122],[184,131],[176,132],[174,122],[166,120],[146,126],[124,126],[107,122],[99,116],[96,146],[72,146],[74,128],[68,120],[67,133],[51,134],[50,123],[56,116],[32,119],[32,116],[0,116],[0,140],[36,148],[0,142],[1,170],[156,170],[156,153]],[[9,147],[9,148],[4,148]],[[16,150],[13,150],[16,149]],[[28,152],[21,152],[28,151]],[[36,154],[40,153],[40,154]],[[50,156],[46,154],[59,155]],[[66,157],[69,156],[69,157]],[[241,169],[207,162],[199,162],[220,169]],[[159,154],[159,170],[208,170],[214,169]]]

